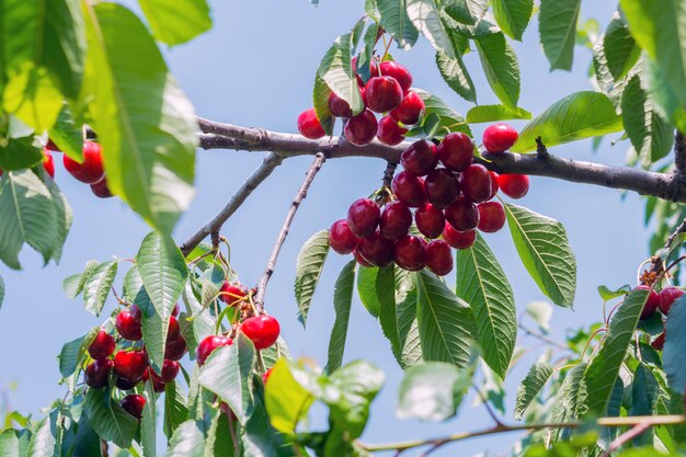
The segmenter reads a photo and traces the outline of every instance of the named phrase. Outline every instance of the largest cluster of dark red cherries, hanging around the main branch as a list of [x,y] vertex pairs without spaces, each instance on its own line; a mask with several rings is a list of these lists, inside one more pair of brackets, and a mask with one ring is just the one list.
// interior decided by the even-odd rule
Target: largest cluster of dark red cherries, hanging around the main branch
[[[505,124],[492,125],[483,134],[490,153],[504,152],[516,140],[517,132]],[[471,138],[462,133],[446,135],[438,146],[424,139],[413,142],[401,155],[403,171],[393,178],[390,196],[386,190],[377,192],[375,199],[354,202],[347,218],[331,226],[331,248],[340,254],[353,252],[365,266],[395,261],[409,271],[426,267],[437,275],[448,274],[450,248],[471,247],[476,229],[492,233],[504,226],[503,205],[490,202],[498,191],[521,198],[529,187],[527,175],[498,175],[473,163],[473,153]],[[410,233],[413,220],[418,235]]]

